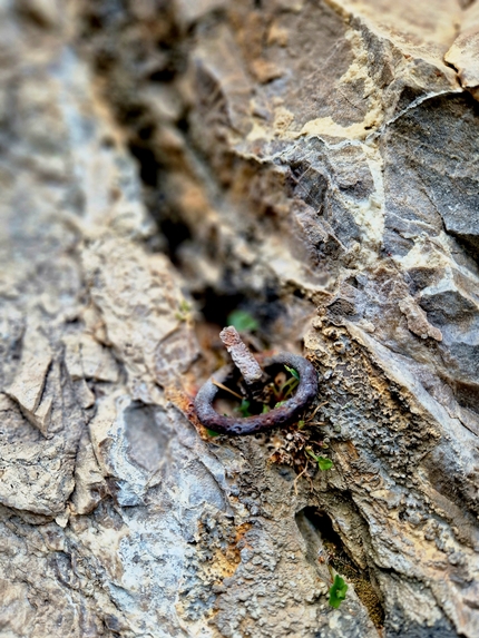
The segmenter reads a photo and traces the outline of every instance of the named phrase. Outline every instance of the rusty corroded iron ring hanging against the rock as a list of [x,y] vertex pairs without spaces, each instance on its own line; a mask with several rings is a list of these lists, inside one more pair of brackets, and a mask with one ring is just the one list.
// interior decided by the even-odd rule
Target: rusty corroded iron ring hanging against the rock
[[300,375],[300,383],[294,396],[285,401],[280,408],[274,408],[265,414],[255,416],[235,418],[223,416],[213,408],[218,387],[213,380],[225,383],[233,372],[232,365],[221,367],[212,379],[209,379],[199,390],[195,399],[196,414],[201,423],[208,430],[222,434],[254,434],[276,425],[285,425],[295,421],[301,412],[307,408],[317,394],[317,372],[314,366],[299,354],[282,352],[276,356],[271,356],[264,361],[264,369],[267,371],[273,365],[289,365]]

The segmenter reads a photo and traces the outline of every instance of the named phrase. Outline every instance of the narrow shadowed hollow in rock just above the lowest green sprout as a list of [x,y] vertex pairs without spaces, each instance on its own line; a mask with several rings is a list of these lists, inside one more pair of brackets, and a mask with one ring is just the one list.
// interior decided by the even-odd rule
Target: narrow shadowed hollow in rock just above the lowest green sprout
[[297,512],[295,520],[306,543],[307,561],[319,571],[323,571],[319,563],[325,560],[340,576],[351,582],[375,627],[382,628],[384,610],[369,569],[361,569],[351,559],[341,537],[334,531],[331,518],[324,511],[310,507]]

